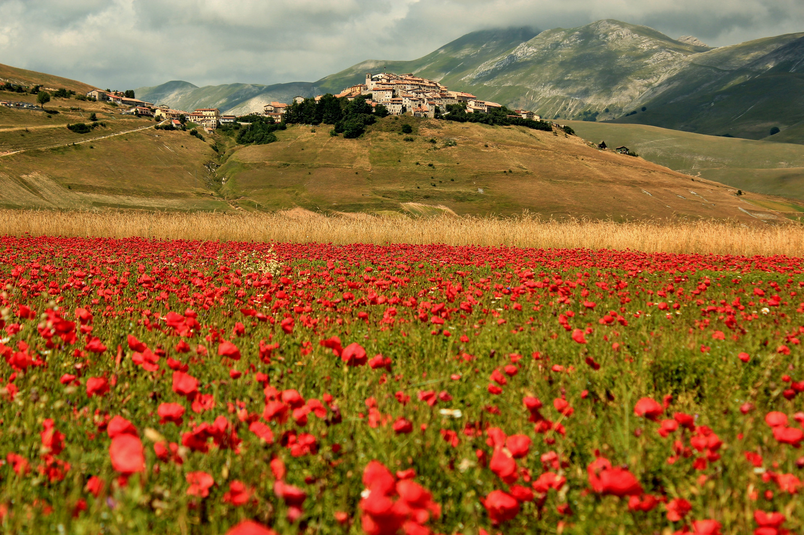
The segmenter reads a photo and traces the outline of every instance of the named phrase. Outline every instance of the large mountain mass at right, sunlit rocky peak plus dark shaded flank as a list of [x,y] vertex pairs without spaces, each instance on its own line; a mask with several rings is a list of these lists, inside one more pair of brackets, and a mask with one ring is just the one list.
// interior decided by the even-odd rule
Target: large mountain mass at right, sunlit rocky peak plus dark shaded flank
[[[552,119],[804,143],[804,33],[711,49],[601,20],[544,31],[456,85]],[[792,130],[771,138],[773,127]]]

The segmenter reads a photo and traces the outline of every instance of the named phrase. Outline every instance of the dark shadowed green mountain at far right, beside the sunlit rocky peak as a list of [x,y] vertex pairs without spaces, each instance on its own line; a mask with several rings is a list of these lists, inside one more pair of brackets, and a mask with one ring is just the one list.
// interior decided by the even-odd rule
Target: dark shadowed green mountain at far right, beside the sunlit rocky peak
[[[804,33],[718,48],[687,63],[642,98],[646,112],[615,122],[804,142]],[[771,135],[773,128],[781,134]]]

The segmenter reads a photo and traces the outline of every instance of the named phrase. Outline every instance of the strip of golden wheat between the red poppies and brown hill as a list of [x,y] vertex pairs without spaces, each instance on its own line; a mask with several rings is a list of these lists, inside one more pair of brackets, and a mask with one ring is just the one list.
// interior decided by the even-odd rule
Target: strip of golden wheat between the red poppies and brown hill
[[0,235],[148,237],[160,240],[278,241],[508,245],[562,249],[633,249],[644,252],[804,255],[799,224],[720,221],[556,221],[537,217],[322,216],[288,212],[21,211],[0,210]]

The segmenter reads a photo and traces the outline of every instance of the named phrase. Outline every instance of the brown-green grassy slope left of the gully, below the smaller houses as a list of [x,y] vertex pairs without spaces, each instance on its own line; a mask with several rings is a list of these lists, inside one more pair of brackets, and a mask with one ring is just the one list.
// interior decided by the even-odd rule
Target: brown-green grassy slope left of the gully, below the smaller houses
[[[77,105],[82,110],[70,109]],[[25,150],[0,158],[0,207],[230,209],[210,189],[211,140],[149,129],[90,141],[156,123],[95,102],[54,99],[47,108],[59,113],[0,108],[0,154]],[[75,134],[65,127],[92,112],[105,128]],[[83,143],[39,148],[73,142]]]

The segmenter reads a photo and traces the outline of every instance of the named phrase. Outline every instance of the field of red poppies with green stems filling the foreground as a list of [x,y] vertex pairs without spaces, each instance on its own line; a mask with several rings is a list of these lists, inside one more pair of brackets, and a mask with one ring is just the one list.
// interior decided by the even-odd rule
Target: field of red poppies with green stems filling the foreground
[[6,533],[800,533],[802,261],[0,238]]

